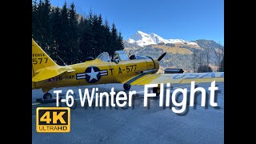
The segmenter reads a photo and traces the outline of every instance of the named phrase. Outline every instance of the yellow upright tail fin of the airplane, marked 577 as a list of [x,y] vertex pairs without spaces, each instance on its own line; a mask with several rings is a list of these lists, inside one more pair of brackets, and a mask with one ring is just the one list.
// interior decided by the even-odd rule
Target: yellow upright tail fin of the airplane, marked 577
[[34,74],[38,70],[49,66],[58,66],[52,58],[32,38],[32,69]]

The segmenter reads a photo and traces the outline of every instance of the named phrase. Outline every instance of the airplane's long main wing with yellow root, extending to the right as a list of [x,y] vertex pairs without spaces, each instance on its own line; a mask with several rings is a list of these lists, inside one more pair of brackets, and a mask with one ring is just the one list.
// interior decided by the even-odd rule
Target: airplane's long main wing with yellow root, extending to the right
[[224,82],[224,72],[190,74],[141,74],[125,84],[146,85],[160,83]]

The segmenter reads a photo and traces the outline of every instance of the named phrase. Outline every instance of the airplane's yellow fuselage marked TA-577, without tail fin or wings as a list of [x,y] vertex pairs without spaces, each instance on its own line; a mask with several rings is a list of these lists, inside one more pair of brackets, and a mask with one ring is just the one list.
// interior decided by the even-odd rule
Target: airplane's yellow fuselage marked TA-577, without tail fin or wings
[[[105,62],[94,59],[70,65],[73,72],[66,72],[41,82],[32,82],[32,89],[47,92],[52,88],[65,86],[85,86],[107,83],[123,83],[146,70],[158,70],[159,63],[150,57],[141,57],[120,62]],[[153,73],[156,73],[153,72]],[[33,73],[32,73],[33,74]],[[32,75],[33,76],[33,75]]]

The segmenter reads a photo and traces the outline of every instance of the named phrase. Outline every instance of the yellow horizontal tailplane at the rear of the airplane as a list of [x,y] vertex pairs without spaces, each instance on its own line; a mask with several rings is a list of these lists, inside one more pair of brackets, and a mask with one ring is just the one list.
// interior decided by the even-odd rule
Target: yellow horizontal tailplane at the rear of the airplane
[[54,78],[59,74],[63,74],[65,72],[74,71],[69,66],[50,66],[45,69],[38,70],[37,74],[32,78],[32,82],[40,82],[49,78]]

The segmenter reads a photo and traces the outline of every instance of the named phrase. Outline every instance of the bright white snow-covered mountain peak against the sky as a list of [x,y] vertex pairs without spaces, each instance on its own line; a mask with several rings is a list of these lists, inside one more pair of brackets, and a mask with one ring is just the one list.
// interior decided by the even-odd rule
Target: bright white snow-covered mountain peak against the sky
[[158,34],[146,34],[142,31],[137,31],[136,34],[132,35],[130,38],[128,38],[127,42],[137,44],[138,46],[148,46],[158,43],[186,43],[187,45],[196,45],[198,44],[196,42],[190,42],[183,39],[164,39],[160,37]]

